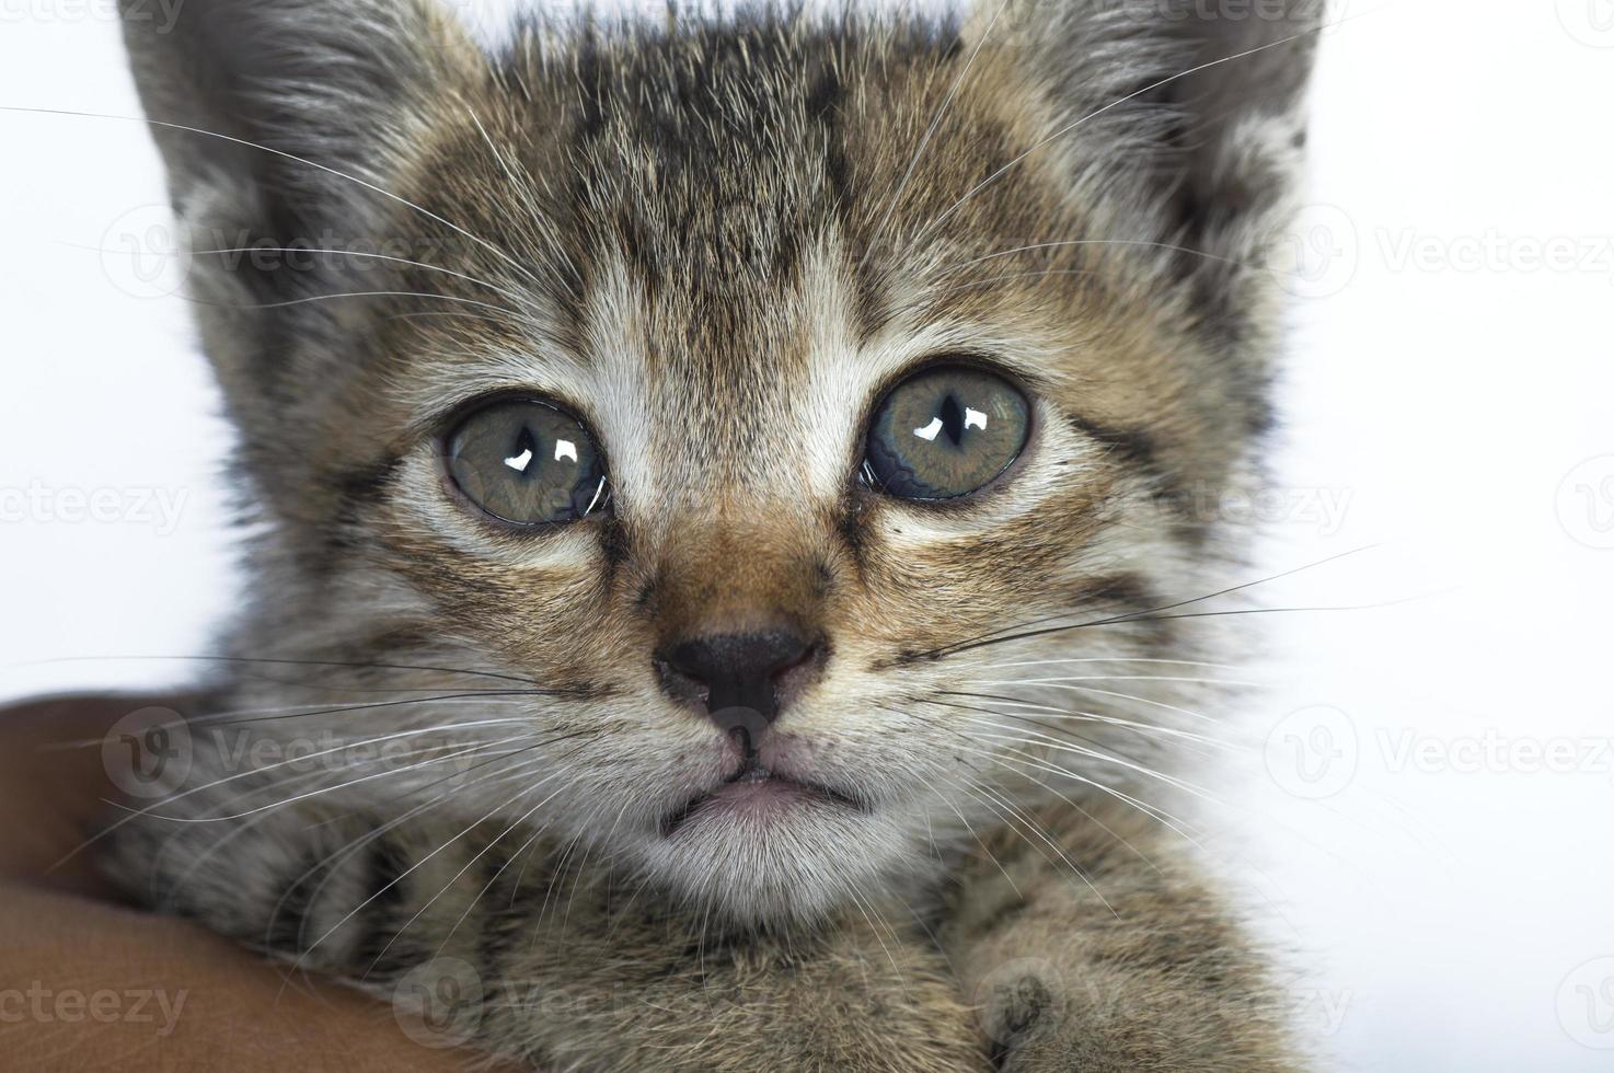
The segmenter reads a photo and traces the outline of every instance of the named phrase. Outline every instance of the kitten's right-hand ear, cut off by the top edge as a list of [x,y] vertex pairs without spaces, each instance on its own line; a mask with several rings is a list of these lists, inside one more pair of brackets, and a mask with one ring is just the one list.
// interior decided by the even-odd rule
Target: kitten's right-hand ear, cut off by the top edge
[[[975,3],[981,19],[999,0]],[[1130,173],[1101,181],[1152,195],[1185,245],[1252,258],[1291,208],[1323,10],[1325,0],[1007,0],[1002,19],[1075,124],[1060,140],[1083,161],[1107,157]]]

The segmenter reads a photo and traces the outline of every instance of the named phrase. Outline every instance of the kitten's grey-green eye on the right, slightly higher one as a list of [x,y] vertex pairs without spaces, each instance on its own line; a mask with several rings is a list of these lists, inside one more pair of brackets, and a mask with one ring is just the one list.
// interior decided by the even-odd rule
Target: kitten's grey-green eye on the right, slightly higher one
[[867,471],[901,499],[980,491],[1025,450],[1031,407],[1009,381],[941,366],[897,384],[868,428]]

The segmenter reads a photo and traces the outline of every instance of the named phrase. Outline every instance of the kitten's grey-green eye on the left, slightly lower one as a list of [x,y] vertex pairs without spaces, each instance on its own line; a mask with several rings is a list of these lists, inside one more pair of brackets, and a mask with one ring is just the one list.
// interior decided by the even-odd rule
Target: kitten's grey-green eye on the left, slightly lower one
[[444,465],[473,503],[516,526],[576,521],[607,500],[594,437],[544,402],[495,402],[465,418]]

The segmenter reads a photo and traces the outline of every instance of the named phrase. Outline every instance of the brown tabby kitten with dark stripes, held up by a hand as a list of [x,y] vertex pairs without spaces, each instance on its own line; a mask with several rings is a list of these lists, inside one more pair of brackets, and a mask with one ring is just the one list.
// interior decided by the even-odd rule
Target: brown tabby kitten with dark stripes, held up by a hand
[[252,595],[107,866],[534,1068],[1294,1068],[1157,802],[1319,5],[694,6],[126,19]]

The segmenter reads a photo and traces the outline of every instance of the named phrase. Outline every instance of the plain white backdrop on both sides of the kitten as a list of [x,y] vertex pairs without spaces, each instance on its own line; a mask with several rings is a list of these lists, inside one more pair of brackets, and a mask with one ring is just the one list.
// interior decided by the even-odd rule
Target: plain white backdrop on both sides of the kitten
[[[111,6],[0,0],[0,105],[136,115]],[[1252,576],[1367,547],[1259,600],[1370,607],[1269,616],[1212,849],[1327,1068],[1609,1070],[1614,6],[1341,13]],[[69,116],[0,147],[0,697],[171,683],[107,657],[203,652],[236,591],[184,303],[98,252],[161,226],[157,158]]]

